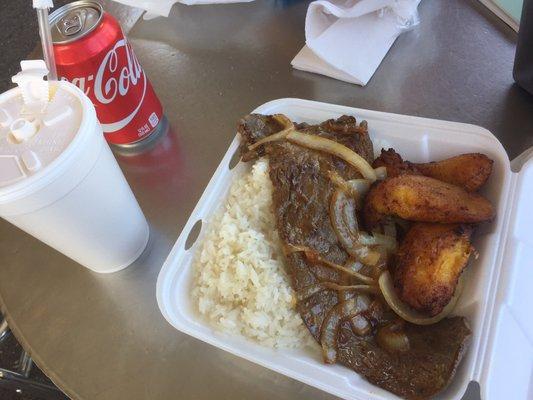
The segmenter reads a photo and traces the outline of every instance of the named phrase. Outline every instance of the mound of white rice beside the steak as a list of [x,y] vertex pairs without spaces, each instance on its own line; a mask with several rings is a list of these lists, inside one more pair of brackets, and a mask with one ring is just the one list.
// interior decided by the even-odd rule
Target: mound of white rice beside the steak
[[268,161],[260,159],[233,182],[208,226],[193,261],[193,298],[216,329],[301,348],[314,341],[295,310],[274,218]]

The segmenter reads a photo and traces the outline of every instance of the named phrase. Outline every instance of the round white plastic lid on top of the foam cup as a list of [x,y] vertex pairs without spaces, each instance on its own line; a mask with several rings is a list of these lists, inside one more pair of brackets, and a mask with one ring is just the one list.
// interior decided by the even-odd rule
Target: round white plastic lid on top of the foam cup
[[43,80],[42,60],[21,62],[19,87],[0,96],[0,190],[41,173],[76,136],[83,115],[79,99]]

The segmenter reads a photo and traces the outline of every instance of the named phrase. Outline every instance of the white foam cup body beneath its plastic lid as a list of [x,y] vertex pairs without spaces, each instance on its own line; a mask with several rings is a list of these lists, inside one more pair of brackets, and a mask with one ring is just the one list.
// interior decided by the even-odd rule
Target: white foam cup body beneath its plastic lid
[[[121,270],[146,247],[148,224],[90,100],[68,82],[50,85],[57,85],[56,96],[64,91],[70,106],[81,108],[79,128],[37,173],[0,185],[0,216],[93,271]],[[0,108],[20,97],[19,88],[1,94]],[[54,140],[50,143],[53,148]]]

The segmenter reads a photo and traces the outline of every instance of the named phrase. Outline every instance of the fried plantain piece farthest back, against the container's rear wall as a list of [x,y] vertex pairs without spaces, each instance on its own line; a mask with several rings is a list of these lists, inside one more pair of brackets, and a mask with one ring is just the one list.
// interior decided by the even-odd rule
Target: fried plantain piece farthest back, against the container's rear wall
[[468,153],[442,161],[415,164],[404,161],[394,149],[381,150],[374,161],[374,168],[384,166],[387,176],[425,175],[475,192],[485,184],[492,173],[493,161],[481,153]]

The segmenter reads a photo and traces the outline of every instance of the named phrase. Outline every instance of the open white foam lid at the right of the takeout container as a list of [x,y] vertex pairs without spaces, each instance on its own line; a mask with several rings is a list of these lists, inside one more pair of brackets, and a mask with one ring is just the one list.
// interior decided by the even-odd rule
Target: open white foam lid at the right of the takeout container
[[486,326],[481,398],[533,399],[533,148],[513,162],[500,276]]

